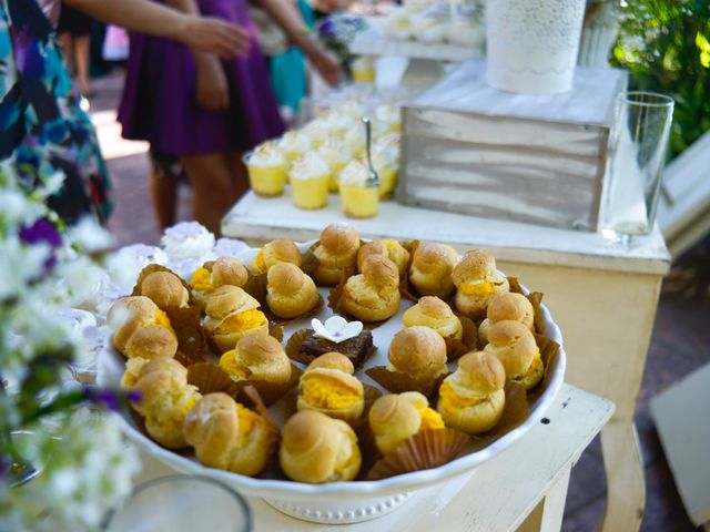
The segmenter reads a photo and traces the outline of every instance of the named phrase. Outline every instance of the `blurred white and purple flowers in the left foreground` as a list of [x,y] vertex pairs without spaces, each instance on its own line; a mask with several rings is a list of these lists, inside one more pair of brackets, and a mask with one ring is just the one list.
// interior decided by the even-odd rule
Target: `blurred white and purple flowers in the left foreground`
[[108,274],[89,254],[110,237],[88,219],[67,228],[44,206],[61,184],[54,174],[24,187],[0,166],[2,530],[98,530],[140,467],[104,413],[138,398],[73,379],[95,346],[65,313],[101,304]]

